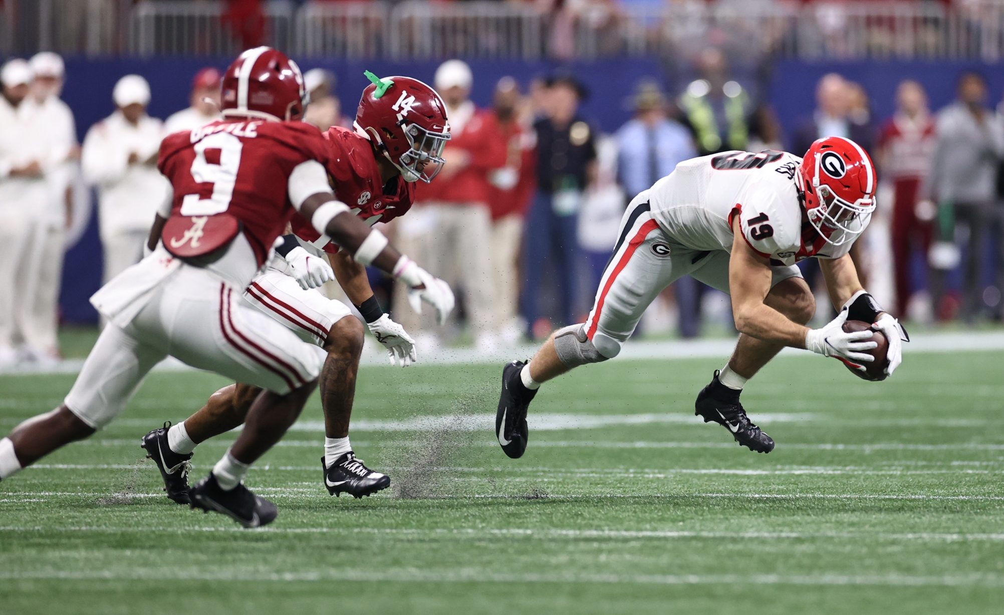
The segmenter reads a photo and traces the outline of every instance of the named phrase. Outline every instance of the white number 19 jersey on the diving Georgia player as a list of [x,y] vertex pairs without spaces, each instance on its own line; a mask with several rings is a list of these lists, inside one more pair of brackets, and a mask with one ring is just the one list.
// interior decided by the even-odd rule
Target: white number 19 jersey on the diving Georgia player
[[724,152],[677,165],[649,190],[652,215],[682,246],[732,250],[732,220],[772,264],[791,265],[810,256],[839,258],[851,242],[827,243],[802,221],[795,173],[802,159],[766,150]]

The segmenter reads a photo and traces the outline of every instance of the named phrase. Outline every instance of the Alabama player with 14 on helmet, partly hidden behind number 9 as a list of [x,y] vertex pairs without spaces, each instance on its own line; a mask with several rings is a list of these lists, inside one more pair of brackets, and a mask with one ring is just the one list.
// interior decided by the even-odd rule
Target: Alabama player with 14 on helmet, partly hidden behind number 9
[[[324,140],[335,197],[372,225],[408,211],[414,182],[431,181],[435,175],[436,171],[423,174],[410,168],[410,148],[402,146],[409,143],[408,135],[429,141],[427,149],[439,150],[437,144],[450,138],[450,128],[445,107],[429,85],[410,77],[380,79],[367,74],[373,83],[362,92],[355,130],[332,127]],[[355,457],[348,439],[362,326],[344,303],[328,299],[315,287],[332,275],[337,279],[369,331],[387,347],[392,365],[415,361],[415,343],[384,314],[364,266],[305,219],[293,218],[291,225],[293,232],[283,237],[276,255],[251,281],[244,298],[326,352],[319,379],[326,436],[321,459],[324,484],[332,495],[347,492],[362,497],[391,484],[389,476],[370,470]],[[244,422],[258,393],[258,388],[248,384],[224,387],[183,423],[147,434],[144,447],[157,462],[170,498],[188,502],[187,473],[195,447]]]

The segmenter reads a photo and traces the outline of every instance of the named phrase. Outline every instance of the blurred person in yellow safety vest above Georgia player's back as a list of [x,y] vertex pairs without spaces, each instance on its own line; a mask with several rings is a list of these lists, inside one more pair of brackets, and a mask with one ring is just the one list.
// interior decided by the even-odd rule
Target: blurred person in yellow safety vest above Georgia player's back
[[701,156],[745,150],[749,139],[750,98],[742,85],[728,80],[728,61],[721,50],[706,49],[699,60],[702,78],[680,96],[680,109],[694,131]]

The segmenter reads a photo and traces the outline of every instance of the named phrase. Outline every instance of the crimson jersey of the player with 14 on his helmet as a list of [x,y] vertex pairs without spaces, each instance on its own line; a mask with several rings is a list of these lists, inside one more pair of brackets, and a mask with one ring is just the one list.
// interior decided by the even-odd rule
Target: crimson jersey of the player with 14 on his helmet
[[[327,172],[334,179],[334,196],[348,205],[355,215],[372,226],[404,215],[412,207],[415,185],[400,175],[388,185],[394,194],[384,192],[384,180],[369,142],[350,130],[332,126],[324,133],[327,142]],[[334,253],[338,246],[321,238],[306,219],[292,220],[293,234],[325,252]]]

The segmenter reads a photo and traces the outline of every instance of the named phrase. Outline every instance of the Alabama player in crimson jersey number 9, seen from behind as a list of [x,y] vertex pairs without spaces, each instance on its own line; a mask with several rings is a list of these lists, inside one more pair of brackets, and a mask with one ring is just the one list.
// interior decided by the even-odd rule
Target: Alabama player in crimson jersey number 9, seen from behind
[[[296,420],[323,353],[238,299],[296,215],[356,262],[392,272],[441,313],[452,310],[445,282],[332,194],[323,139],[291,122],[302,117],[304,97],[295,63],[269,47],[249,49],[224,76],[224,119],[165,140],[158,166],[174,190],[151,233],[156,248],[91,297],[108,325],[64,403],[0,440],[0,479],[106,425],[147,372],[171,355],[260,389],[237,441],[192,488],[192,506],[245,527],[271,523],[275,505],[243,479]],[[437,164],[434,149],[419,143],[409,150],[414,169]]]

